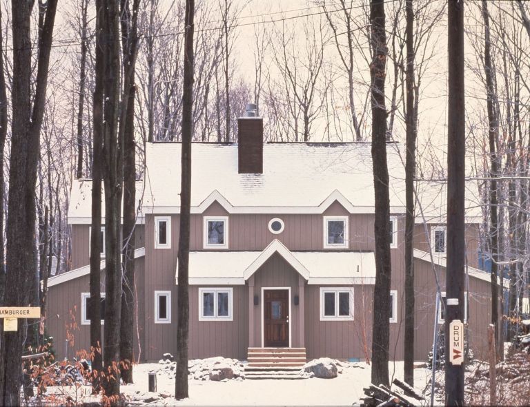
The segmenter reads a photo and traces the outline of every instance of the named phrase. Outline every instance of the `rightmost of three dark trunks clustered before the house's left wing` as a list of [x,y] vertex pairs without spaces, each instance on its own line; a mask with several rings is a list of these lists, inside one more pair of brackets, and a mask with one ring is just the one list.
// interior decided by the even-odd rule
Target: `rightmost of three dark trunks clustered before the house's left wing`
[[[133,341],[135,326],[135,224],[136,224],[136,162],[135,162],[135,65],[137,54],[137,15],[139,0],[134,0],[133,10],[129,0],[121,0],[121,38],[124,53],[124,97],[120,118],[124,151],[124,227],[123,271],[121,280],[121,379],[133,383]],[[132,14],[132,15],[131,15]],[[121,138],[121,137],[120,137]]]

